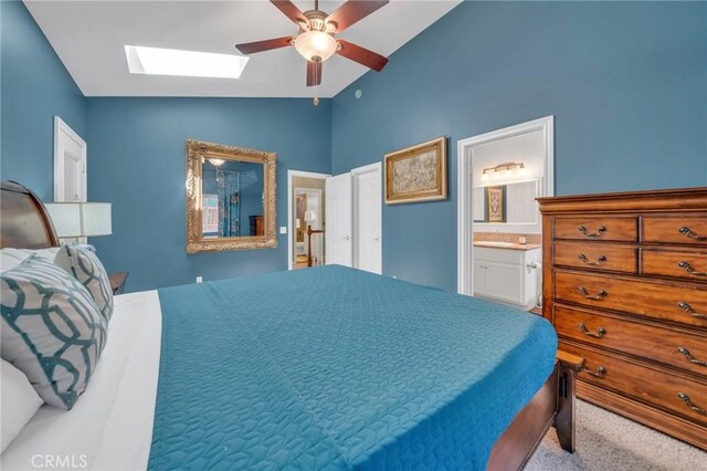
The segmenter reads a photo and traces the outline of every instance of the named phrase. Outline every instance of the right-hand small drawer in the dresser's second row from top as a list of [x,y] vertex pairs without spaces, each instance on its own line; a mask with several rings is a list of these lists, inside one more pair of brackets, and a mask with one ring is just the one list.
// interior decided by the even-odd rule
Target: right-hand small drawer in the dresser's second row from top
[[642,249],[641,266],[643,274],[707,282],[707,251]]

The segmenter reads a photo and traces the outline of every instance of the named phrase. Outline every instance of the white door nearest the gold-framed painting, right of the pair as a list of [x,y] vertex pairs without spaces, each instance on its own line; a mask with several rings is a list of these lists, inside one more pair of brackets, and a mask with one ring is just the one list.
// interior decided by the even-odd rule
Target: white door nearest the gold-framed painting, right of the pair
[[354,175],[354,266],[381,274],[382,212],[380,164],[351,170]]

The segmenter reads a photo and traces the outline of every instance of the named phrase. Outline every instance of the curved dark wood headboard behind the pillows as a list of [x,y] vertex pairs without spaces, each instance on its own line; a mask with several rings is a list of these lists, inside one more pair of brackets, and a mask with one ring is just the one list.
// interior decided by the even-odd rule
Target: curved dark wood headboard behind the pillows
[[0,248],[59,247],[52,219],[42,200],[15,181],[0,185]]

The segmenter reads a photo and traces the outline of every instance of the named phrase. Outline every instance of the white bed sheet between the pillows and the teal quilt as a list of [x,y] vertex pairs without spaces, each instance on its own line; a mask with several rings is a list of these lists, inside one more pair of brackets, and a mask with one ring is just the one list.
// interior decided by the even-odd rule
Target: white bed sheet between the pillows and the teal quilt
[[0,468],[146,469],[161,325],[157,291],[115,296],[108,342],[84,394],[68,411],[42,406],[2,453]]

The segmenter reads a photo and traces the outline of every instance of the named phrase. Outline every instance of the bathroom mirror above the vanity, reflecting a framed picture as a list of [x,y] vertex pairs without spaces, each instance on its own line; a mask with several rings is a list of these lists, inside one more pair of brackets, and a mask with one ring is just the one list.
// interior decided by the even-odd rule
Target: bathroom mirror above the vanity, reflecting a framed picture
[[539,179],[474,187],[474,222],[538,223]]

